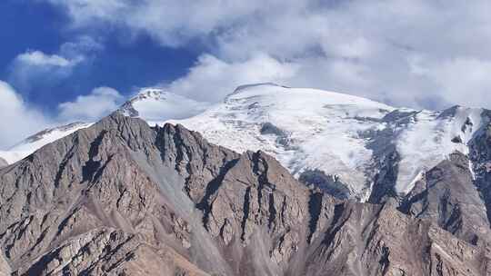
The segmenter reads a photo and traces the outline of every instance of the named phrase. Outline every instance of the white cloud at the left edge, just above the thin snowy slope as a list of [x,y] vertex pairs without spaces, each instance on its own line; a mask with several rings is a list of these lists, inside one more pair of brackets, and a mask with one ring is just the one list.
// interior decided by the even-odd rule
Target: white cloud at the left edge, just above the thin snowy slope
[[0,81],[0,149],[8,148],[50,124],[45,115],[25,104],[9,84]]

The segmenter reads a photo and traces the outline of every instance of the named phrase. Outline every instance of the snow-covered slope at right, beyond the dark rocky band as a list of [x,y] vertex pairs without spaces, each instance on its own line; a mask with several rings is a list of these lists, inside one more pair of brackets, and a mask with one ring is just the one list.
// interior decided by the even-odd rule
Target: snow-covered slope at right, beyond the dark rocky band
[[401,156],[396,192],[409,192],[418,175],[445,160],[450,153],[469,153],[467,144],[482,126],[484,110],[455,106],[443,112],[410,114],[407,123],[391,123]]

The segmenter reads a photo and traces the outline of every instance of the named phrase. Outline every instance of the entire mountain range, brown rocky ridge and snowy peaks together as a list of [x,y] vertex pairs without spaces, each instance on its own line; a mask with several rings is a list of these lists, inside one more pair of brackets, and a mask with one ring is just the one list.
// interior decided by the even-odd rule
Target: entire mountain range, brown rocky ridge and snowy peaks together
[[491,275],[490,121],[276,84],[219,104],[144,89],[0,153],[0,271]]

